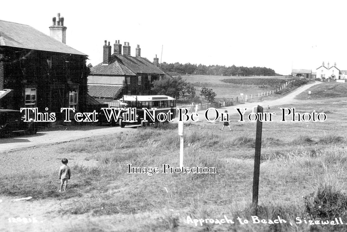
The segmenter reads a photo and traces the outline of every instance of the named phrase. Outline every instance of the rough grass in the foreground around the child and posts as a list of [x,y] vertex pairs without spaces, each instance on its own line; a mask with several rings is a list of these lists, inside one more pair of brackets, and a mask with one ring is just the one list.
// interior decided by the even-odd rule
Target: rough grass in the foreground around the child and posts
[[[295,223],[296,217],[341,217],[347,223],[346,103],[329,98],[281,106],[295,107],[298,113],[327,112],[324,122],[280,122],[279,107],[271,109],[274,121],[263,123],[257,214],[251,208],[255,123],[237,122],[237,115],[231,118],[232,131],[221,131],[222,123],[185,125],[184,166],[215,167],[217,174],[161,173],[162,164],[179,166],[177,125],[170,123],[29,149],[26,153],[35,153],[37,162],[0,170],[0,194],[31,195],[32,202],[47,200],[47,207],[58,200],[61,207],[46,208],[44,216],[52,221],[64,217],[64,231],[346,231],[346,225]],[[47,156],[49,151],[54,152]],[[16,158],[16,152],[6,155]],[[57,193],[56,173],[62,157],[70,160],[73,175],[63,195]],[[84,166],[77,159],[95,165]],[[128,174],[127,164],[161,171]],[[44,171],[34,171],[41,167]],[[287,223],[254,224],[254,215],[267,222],[280,216]],[[227,216],[235,224],[195,226],[187,216]],[[249,223],[240,224],[237,217]],[[76,221],[81,227],[73,225]]]

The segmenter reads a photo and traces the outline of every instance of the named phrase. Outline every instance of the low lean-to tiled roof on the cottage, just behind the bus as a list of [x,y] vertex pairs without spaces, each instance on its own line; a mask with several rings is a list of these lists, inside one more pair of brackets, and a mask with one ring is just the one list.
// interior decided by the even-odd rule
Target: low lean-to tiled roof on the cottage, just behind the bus
[[88,94],[92,97],[116,98],[122,91],[122,85],[88,84]]

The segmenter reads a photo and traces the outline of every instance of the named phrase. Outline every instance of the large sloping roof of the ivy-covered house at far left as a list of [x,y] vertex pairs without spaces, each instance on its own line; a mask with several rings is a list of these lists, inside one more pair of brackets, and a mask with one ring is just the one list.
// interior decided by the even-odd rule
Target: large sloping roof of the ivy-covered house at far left
[[87,56],[29,25],[3,20],[0,20],[0,46]]

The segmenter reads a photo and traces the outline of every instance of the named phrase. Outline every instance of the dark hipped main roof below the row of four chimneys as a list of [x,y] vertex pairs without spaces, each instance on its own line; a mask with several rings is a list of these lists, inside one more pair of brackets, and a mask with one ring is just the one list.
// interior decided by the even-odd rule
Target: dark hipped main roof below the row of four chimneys
[[136,75],[136,73],[165,74],[147,58],[113,54],[109,65],[91,68],[91,75]]

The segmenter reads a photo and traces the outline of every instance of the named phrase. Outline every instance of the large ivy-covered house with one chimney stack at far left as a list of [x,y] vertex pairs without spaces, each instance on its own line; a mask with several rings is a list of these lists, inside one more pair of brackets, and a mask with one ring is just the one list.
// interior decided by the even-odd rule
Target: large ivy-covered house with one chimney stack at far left
[[0,20],[0,90],[11,93],[11,99],[0,99],[0,107],[84,110],[87,55],[65,44],[66,26],[60,14],[53,17],[49,29],[51,36],[25,24]]

